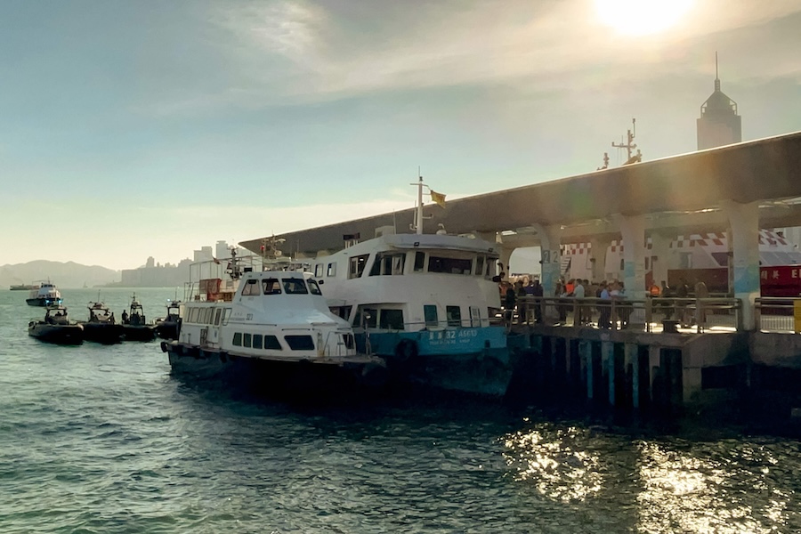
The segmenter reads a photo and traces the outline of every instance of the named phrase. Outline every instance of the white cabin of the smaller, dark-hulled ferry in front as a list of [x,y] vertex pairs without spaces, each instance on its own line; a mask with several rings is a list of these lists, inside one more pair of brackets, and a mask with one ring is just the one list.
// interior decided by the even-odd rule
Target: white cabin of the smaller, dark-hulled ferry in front
[[[265,360],[356,353],[352,329],[328,311],[311,273],[247,272],[238,281],[233,294],[206,292],[184,304],[178,344]],[[216,291],[221,284],[199,287]]]

